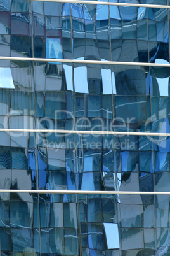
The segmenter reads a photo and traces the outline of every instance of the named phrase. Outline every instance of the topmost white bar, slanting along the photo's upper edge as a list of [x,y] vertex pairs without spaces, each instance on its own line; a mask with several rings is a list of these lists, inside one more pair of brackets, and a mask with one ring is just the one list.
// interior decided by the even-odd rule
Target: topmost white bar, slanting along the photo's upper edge
[[129,4],[129,3],[112,3],[103,1],[80,1],[80,0],[31,0],[41,2],[56,2],[56,3],[80,3],[80,4],[101,4],[101,5],[114,5],[114,6],[129,6],[129,7],[148,7],[148,8],[163,8],[169,9],[168,5],[159,4]]

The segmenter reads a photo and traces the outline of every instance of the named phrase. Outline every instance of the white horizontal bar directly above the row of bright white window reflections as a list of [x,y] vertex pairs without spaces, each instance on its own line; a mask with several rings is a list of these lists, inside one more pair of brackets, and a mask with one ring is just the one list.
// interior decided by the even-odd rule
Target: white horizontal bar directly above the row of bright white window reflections
[[170,64],[147,63],[147,62],[126,62],[126,61],[103,61],[103,60],[70,60],[70,59],[45,59],[45,58],[28,58],[28,57],[6,57],[0,56],[0,60],[26,60],[37,62],[61,62],[77,64],[102,64],[102,65],[128,65],[128,66],[153,66],[153,67],[170,67]]

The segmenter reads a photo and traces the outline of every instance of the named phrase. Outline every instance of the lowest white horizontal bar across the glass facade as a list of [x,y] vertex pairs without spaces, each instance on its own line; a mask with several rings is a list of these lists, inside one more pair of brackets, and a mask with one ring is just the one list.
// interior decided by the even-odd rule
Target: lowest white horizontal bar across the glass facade
[[91,190],[25,190],[25,189],[0,189],[0,193],[37,193],[37,194],[106,194],[106,195],[169,195],[170,192],[148,191],[91,191]]

